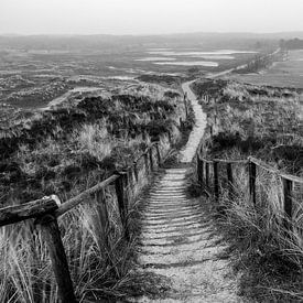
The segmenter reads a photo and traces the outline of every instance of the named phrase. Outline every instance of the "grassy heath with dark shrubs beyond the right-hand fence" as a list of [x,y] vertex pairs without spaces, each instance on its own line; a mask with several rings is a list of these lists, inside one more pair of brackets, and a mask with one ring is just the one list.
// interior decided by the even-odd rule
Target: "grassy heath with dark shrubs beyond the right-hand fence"
[[225,80],[196,83],[195,90],[207,91],[213,98],[208,105],[204,104],[208,125],[216,134],[212,153],[226,159],[253,155],[289,173],[302,173],[300,93]]

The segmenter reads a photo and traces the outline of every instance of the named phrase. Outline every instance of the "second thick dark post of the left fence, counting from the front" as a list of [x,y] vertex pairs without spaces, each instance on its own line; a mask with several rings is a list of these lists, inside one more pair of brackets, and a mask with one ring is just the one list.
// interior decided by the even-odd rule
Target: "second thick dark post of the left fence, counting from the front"
[[128,229],[128,194],[127,194],[127,173],[120,172],[119,177],[115,181],[118,207],[123,226],[125,238],[130,239]]

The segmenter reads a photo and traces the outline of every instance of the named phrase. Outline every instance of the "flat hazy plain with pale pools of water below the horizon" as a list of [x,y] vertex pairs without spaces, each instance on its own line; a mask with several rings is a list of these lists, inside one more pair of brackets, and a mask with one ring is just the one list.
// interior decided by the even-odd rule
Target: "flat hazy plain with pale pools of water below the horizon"
[[[256,48],[252,40],[176,37],[105,44],[98,37],[29,37],[15,42],[0,37],[0,104],[23,109],[46,107],[71,90],[83,94],[133,83],[141,75],[184,77],[223,71],[250,61],[271,44]],[[274,47],[274,46],[271,46]],[[117,83],[119,82],[120,83]],[[55,101],[56,102],[56,101]]]

